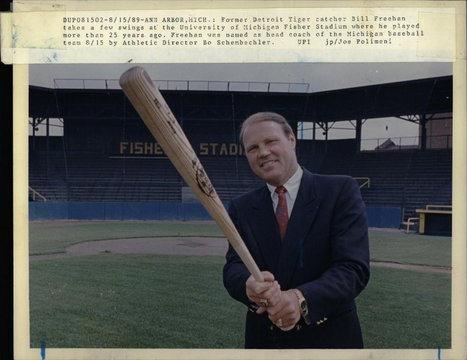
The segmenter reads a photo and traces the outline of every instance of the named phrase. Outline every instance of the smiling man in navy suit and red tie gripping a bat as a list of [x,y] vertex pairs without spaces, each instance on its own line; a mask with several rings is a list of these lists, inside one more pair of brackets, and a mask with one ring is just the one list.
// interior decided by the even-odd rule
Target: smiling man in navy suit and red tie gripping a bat
[[249,307],[245,347],[362,348],[354,299],[370,272],[356,180],[302,169],[292,129],[276,113],[251,115],[240,142],[266,182],[229,204],[265,278],[255,281],[229,245],[224,286]]

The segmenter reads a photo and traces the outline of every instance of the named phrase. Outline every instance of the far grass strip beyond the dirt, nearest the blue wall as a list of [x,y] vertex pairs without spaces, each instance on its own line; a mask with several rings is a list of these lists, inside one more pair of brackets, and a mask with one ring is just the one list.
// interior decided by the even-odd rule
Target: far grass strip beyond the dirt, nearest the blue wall
[[[157,236],[219,236],[221,230],[212,221],[117,221],[107,223],[34,223],[29,224],[29,254],[65,252],[72,244]],[[450,267],[451,238],[417,234],[381,234],[370,232],[372,260],[396,261]]]

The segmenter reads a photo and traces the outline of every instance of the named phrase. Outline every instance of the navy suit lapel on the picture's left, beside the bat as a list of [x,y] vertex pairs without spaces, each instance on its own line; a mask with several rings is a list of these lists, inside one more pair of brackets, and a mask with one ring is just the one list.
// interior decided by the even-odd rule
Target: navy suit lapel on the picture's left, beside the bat
[[[263,255],[268,270],[275,272],[281,252],[281,240],[274,216],[271,195],[266,184],[250,209],[251,231]],[[264,270],[264,269],[261,269]]]

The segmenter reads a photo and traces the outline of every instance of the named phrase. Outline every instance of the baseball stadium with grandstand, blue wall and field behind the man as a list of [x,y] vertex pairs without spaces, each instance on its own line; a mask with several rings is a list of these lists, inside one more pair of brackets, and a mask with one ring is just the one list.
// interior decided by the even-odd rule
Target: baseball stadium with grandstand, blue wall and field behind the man
[[[30,346],[241,349],[247,309],[223,287],[225,235],[118,76],[29,86]],[[226,209],[264,183],[238,139],[258,111],[287,119],[302,167],[355,178],[370,241],[364,347],[451,347],[452,75],[323,91],[153,83]],[[362,135],[378,119],[417,135]]]

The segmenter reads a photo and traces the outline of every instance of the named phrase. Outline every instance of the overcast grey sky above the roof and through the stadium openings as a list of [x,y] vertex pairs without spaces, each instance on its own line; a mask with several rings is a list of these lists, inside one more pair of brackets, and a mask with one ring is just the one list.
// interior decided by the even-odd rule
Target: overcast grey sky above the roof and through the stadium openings
[[[110,88],[118,89],[120,75],[137,64],[41,64],[30,65],[30,85],[54,88],[54,79],[107,79]],[[254,64],[141,64],[153,80],[238,81],[309,84],[309,92],[337,90],[397,81],[452,75],[451,63],[254,63]],[[82,81],[60,80],[60,88],[82,88]],[[180,84],[179,84],[180,85]],[[87,81],[87,88],[105,88],[105,82]],[[172,84],[172,86],[175,86]],[[163,89],[163,88],[162,88]],[[301,91],[305,87],[299,87]],[[338,127],[354,128],[350,123]],[[305,128],[310,127],[305,124]],[[44,132],[40,129],[39,133]],[[60,135],[61,129],[51,129]],[[300,136],[300,133],[299,133]],[[418,136],[418,126],[400,119],[368,120],[362,126],[362,139],[388,139]],[[329,139],[354,138],[355,130],[329,131]],[[311,131],[304,132],[311,138]],[[322,131],[317,139],[322,139]],[[410,140],[410,139],[408,139]],[[407,140],[406,140],[407,141]],[[374,147],[373,142],[371,147]],[[362,143],[363,145],[363,143]],[[364,145],[363,145],[364,146]],[[376,145],[375,145],[376,146]]]

